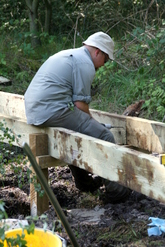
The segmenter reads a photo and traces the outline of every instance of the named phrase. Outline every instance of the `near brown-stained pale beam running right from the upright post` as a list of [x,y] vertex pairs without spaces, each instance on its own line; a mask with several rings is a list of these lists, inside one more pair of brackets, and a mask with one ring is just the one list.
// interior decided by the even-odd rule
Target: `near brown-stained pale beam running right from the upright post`
[[48,129],[49,154],[165,203],[159,157],[60,128]]

